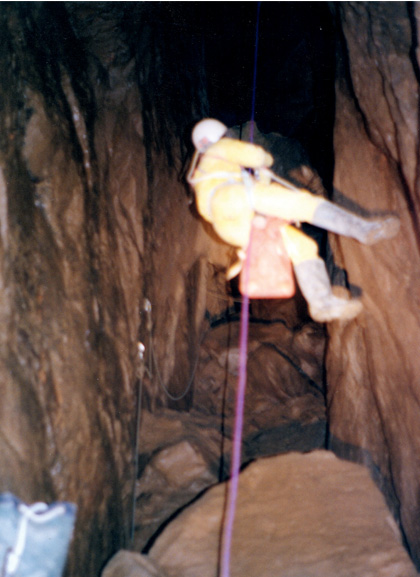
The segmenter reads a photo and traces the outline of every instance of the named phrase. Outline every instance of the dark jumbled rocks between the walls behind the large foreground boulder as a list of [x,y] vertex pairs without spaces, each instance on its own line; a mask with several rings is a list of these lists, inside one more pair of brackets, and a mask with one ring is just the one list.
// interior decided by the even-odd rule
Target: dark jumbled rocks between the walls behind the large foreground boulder
[[[200,351],[193,408],[142,413],[135,548],[202,491],[228,475],[239,323],[210,331]],[[251,323],[242,464],[325,447],[325,336],[317,325]],[[301,360],[300,360],[301,359]],[[300,364],[301,363],[301,364]]]

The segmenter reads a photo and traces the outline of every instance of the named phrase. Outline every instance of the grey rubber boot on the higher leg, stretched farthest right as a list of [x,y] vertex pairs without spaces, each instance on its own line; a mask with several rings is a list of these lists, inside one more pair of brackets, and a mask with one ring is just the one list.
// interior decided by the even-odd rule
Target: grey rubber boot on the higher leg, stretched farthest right
[[315,209],[311,224],[355,238],[363,244],[374,244],[392,238],[400,228],[400,221],[395,216],[366,219],[328,201],[321,202]]

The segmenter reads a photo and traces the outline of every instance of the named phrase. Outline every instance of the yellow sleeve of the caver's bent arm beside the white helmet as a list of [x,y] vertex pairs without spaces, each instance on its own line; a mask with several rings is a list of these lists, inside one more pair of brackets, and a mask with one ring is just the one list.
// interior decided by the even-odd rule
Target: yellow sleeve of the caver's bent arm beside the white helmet
[[233,138],[222,138],[207,150],[206,156],[227,160],[244,168],[269,167],[274,162],[271,154],[262,146]]

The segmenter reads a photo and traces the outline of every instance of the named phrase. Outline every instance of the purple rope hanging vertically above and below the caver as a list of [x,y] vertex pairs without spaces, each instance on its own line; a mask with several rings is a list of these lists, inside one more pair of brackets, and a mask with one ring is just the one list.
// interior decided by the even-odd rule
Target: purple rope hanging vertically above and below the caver
[[[255,53],[254,53],[254,79],[252,86],[252,115],[251,115],[251,129],[250,129],[251,142],[254,141],[255,94],[257,87],[257,60],[258,60],[258,33],[260,24],[260,5],[261,2],[258,2]],[[239,340],[239,376],[236,391],[235,425],[233,430],[230,485],[226,506],[226,519],[223,526],[222,557],[221,557],[221,571],[220,571],[221,577],[230,576],[233,524],[235,521],[236,501],[238,498],[239,472],[241,468],[242,430],[243,430],[245,391],[246,391],[246,366],[248,357],[249,296],[247,287],[249,282],[249,266],[250,266],[249,249],[251,243],[252,243],[252,229],[248,242],[247,258],[245,259],[245,267],[244,267],[245,294],[243,297],[242,309],[241,309],[241,330]]]

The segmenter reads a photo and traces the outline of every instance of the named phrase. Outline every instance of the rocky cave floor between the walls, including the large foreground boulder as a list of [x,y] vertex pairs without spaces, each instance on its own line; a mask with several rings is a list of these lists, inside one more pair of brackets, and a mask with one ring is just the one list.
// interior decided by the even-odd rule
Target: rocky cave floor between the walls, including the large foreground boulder
[[[325,333],[251,322],[232,576],[411,577],[366,468],[325,450]],[[103,577],[216,577],[238,377],[239,323],[200,348],[188,411],[143,409],[131,551]]]

